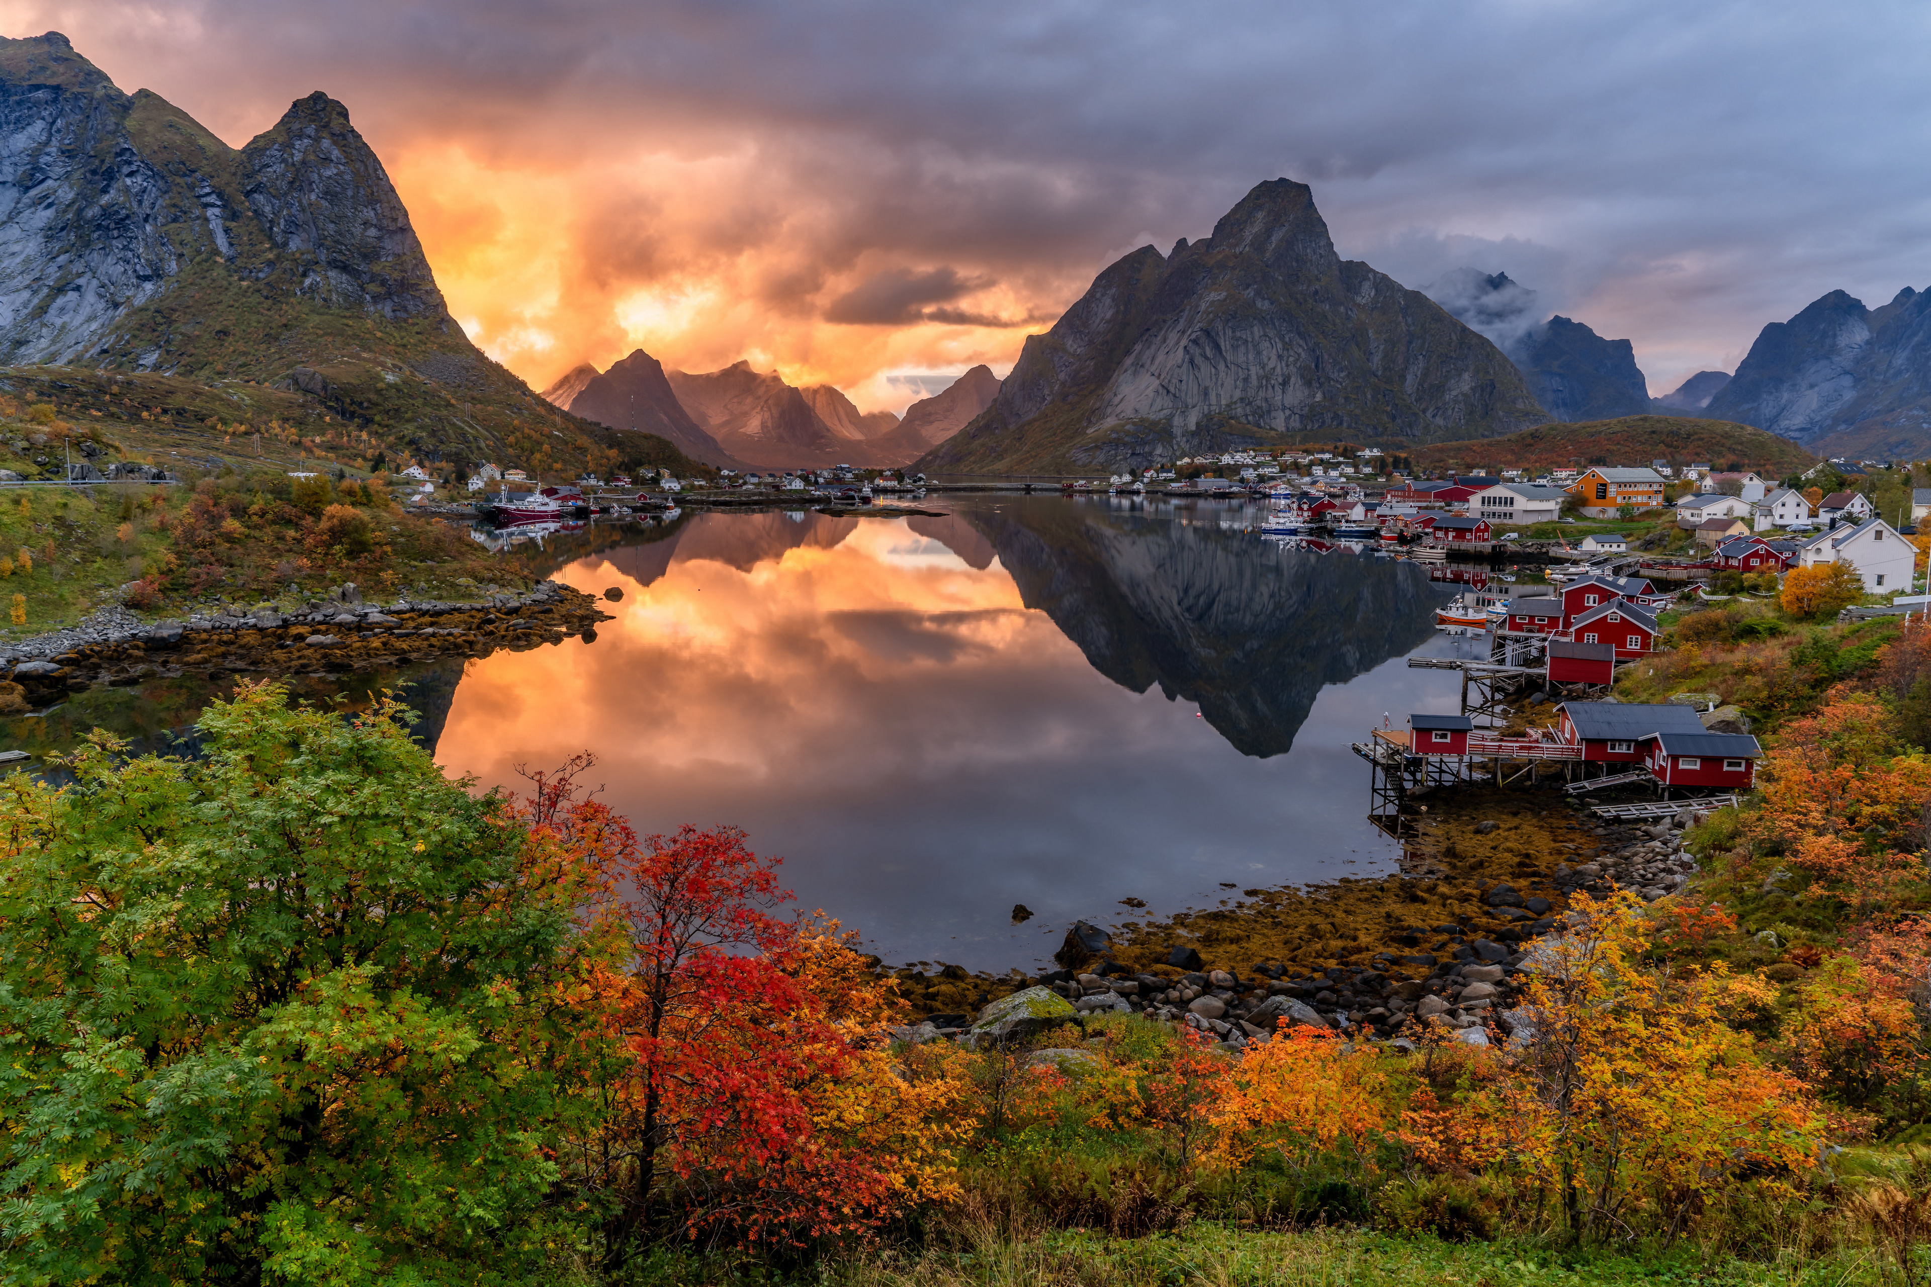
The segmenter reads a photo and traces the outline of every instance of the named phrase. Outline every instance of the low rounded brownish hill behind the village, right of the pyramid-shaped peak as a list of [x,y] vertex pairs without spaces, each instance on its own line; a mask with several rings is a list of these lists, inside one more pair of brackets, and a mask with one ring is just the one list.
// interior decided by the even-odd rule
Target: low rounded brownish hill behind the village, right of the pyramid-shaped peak
[[1415,448],[1417,469],[1558,469],[1562,465],[1676,465],[1709,463],[1717,469],[1755,469],[1777,479],[1804,473],[1817,463],[1809,452],[1749,424],[1680,415],[1630,415],[1616,421],[1551,423],[1506,438],[1437,442]]

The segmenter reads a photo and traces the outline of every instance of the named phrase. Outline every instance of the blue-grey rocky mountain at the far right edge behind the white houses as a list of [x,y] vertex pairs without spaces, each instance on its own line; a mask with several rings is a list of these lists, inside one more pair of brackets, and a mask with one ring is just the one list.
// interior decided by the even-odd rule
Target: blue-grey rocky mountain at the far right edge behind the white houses
[[1707,413],[1827,455],[1931,453],[1931,293],[1865,309],[1831,291],[1771,322]]

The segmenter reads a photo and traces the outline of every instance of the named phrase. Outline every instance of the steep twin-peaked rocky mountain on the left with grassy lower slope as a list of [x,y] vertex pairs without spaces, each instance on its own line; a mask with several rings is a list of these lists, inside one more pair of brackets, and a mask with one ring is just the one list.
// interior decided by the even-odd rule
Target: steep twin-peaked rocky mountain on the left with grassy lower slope
[[274,386],[371,457],[689,465],[558,415],[477,351],[334,98],[232,149],[50,31],[0,41],[0,365],[218,380],[243,421],[241,390]]

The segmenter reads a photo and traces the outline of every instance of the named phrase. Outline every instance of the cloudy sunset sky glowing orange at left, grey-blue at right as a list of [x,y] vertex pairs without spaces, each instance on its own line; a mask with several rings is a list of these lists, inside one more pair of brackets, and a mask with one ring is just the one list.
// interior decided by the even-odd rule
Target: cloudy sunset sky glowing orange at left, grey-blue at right
[[1344,257],[1473,266],[1653,394],[1831,289],[1931,284],[1931,6],[0,0],[232,145],[315,89],[450,311],[543,388],[643,347],[904,409],[1120,255],[1313,185]]

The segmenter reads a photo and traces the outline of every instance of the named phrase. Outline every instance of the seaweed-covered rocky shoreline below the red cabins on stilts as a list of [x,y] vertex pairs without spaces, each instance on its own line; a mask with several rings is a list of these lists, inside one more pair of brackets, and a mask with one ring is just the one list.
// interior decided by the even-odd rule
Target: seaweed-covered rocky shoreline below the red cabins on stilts
[[1271,1036],[1278,1019],[1398,1046],[1429,1030],[1483,1044],[1491,1021],[1510,1028],[1516,974],[1537,938],[1564,928],[1576,893],[1628,888],[1653,903],[1695,868],[1682,847],[1693,803],[1653,826],[1545,789],[1475,787],[1429,805],[1402,870],[1385,876],[1230,891],[1220,907],[1112,930],[1081,920],[1060,969],[1037,974],[881,971],[898,978],[910,1027],[931,1025],[921,1040],[956,1038],[1002,998],[1045,988],[1081,1017],[1184,1023],[1228,1048]]

